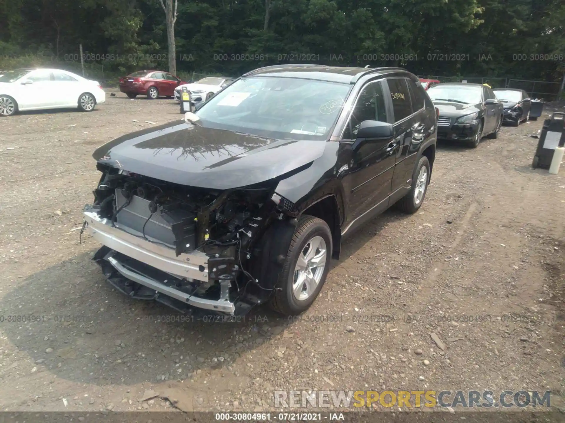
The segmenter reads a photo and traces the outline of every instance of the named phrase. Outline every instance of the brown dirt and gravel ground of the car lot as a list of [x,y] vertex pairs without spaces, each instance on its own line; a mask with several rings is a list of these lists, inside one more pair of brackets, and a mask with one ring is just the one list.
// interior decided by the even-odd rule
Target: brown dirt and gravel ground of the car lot
[[565,169],[532,170],[529,136],[550,112],[477,149],[440,145],[421,210],[349,239],[301,319],[223,324],[156,321],[178,315],[112,289],[76,230],[94,148],[181,118],[177,103],[117,93],[3,118],[0,409],[274,411],[276,389],[552,390],[562,406]]

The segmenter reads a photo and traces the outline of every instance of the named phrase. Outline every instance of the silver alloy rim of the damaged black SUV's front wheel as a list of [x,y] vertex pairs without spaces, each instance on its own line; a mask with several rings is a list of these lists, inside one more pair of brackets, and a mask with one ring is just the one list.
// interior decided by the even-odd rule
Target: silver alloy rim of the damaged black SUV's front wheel
[[324,274],[327,246],[321,236],[314,236],[298,255],[294,267],[292,292],[295,299],[305,301],[316,291]]

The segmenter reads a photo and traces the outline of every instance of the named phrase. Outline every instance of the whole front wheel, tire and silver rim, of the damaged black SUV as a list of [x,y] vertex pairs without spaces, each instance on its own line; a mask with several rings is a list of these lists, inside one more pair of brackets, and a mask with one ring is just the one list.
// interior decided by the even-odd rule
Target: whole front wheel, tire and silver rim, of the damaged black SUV
[[332,232],[322,219],[302,215],[298,221],[270,306],[285,315],[308,310],[328,276]]

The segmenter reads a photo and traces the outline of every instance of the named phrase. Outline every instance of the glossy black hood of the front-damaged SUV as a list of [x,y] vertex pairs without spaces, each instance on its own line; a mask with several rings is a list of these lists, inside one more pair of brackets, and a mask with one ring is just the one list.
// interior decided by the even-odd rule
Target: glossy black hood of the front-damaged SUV
[[309,164],[323,154],[325,145],[320,140],[262,138],[179,120],[120,136],[92,156],[147,177],[227,190]]

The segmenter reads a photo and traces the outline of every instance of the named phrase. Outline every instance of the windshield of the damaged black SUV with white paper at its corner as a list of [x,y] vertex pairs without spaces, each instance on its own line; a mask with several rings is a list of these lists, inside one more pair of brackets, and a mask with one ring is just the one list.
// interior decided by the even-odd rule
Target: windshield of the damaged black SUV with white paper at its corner
[[[327,139],[351,85],[299,78],[242,78],[196,114],[202,126],[277,139]],[[201,122],[201,123],[200,123]]]

